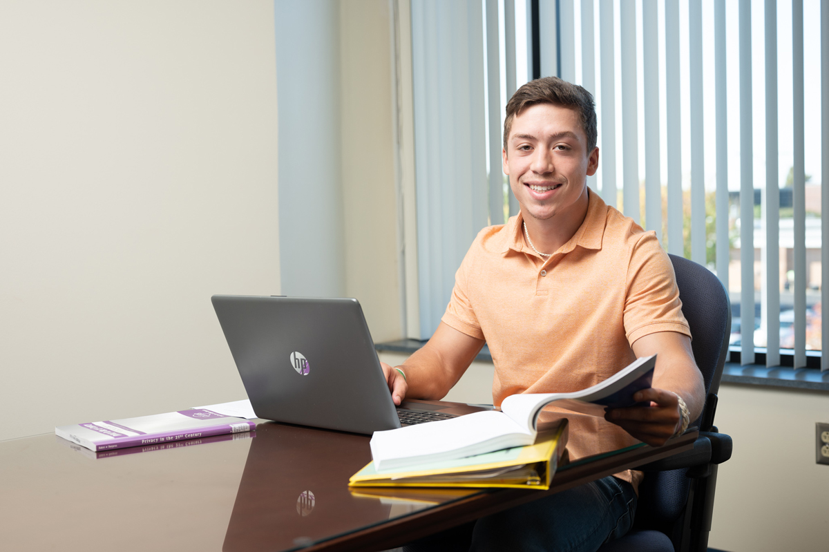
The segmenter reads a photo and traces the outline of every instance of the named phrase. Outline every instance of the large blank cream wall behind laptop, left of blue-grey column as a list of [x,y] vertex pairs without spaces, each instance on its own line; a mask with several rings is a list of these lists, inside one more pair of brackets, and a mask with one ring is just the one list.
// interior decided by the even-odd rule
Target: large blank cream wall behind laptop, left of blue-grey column
[[274,4],[0,2],[0,439],[245,392],[279,293]]

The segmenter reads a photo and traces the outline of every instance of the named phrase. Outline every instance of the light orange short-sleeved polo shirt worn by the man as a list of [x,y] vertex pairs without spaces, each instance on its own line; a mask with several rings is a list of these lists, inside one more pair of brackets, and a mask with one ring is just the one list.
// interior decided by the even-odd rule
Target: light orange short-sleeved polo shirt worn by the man
[[639,337],[691,337],[656,234],[592,190],[579,230],[546,259],[526,245],[521,214],[481,230],[442,320],[487,341],[496,405],[515,393],[595,385],[635,360]]

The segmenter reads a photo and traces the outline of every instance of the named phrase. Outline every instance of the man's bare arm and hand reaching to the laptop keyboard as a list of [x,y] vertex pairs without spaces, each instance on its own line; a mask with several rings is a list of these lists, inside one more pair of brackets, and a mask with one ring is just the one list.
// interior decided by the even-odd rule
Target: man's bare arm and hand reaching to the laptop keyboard
[[443,399],[475,360],[484,343],[440,322],[431,339],[397,366],[403,370],[405,378],[397,369],[381,362],[391,399],[397,405],[405,397]]

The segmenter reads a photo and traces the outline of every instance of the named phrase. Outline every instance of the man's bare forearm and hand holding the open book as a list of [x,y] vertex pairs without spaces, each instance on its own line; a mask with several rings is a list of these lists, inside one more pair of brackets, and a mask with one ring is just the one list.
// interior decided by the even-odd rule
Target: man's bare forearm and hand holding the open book
[[656,332],[633,341],[636,356],[657,355],[651,389],[634,399],[651,401],[650,407],[611,409],[605,417],[647,444],[661,446],[680,427],[677,395],[688,407],[690,420],[697,419],[705,405],[705,385],[691,351],[691,338],[678,332]]

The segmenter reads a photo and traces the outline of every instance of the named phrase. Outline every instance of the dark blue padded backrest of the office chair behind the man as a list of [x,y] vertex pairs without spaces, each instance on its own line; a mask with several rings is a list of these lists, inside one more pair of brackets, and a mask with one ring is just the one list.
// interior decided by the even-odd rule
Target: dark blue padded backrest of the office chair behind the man
[[[691,327],[691,348],[696,366],[705,380],[705,409],[700,419],[713,423],[716,392],[720,388],[731,332],[731,303],[720,279],[701,264],[668,255],[676,273],[682,313]],[[709,429],[708,427],[701,429]],[[666,472],[647,472],[639,487],[639,506],[635,528],[657,529],[674,542],[681,535],[679,518],[688,501],[691,480],[687,468]]]

